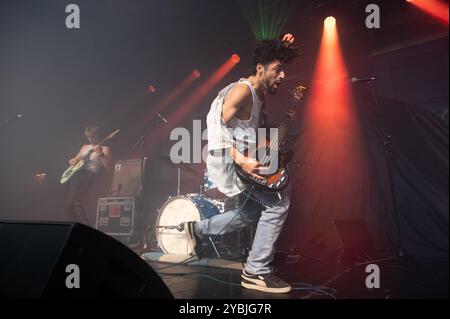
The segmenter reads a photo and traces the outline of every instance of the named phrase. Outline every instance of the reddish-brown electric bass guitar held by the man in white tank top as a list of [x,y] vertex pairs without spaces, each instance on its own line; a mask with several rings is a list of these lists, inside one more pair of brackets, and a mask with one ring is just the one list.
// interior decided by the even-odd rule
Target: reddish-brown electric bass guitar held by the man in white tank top
[[[236,173],[244,184],[268,192],[281,191],[288,185],[288,170],[278,155],[278,151],[284,141],[286,131],[291,122],[289,113],[295,110],[300,100],[303,98],[305,91],[306,87],[302,85],[299,85],[290,91],[293,97],[293,105],[289,108],[286,116],[272,139],[272,142],[278,141],[278,144],[272,143],[271,145],[271,141],[264,137],[258,143],[255,150],[246,150],[244,152],[246,157],[257,159],[263,166],[260,168],[259,173],[257,173],[257,175],[261,176],[261,178],[257,178],[247,173],[240,165],[235,163]],[[273,148],[275,145],[278,145],[278,149],[274,150]]]

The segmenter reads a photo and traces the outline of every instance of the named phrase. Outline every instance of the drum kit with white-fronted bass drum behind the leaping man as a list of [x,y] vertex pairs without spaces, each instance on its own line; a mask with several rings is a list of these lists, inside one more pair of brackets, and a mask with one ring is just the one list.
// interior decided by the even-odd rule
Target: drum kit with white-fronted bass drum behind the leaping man
[[[180,225],[187,221],[209,219],[225,212],[226,197],[218,191],[217,187],[208,178],[206,171],[199,193],[181,194],[181,172],[190,172],[198,175],[199,171],[194,169],[191,164],[175,164],[170,160],[169,156],[162,156],[161,158],[163,161],[174,165],[177,169],[177,191],[176,196],[169,197],[158,209],[154,226],[157,245],[166,254],[190,255],[192,249],[188,245],[185,230],[181,229]],[[218,258],[222,258],[224,253],[231,254],[230,249],[224,244],[223,238],[220,238],[219,241],[216,239],[208,237],[204,244],[206,245],[209,241],[214,254]]]

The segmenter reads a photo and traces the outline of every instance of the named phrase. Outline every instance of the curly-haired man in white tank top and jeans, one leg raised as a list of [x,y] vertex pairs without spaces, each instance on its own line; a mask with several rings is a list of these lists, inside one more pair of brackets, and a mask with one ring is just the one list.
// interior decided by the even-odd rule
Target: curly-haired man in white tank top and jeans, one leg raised
[[[264,125],[264,96],[277,92],[285,78],[284,65],[297,56],[297,49],[291,42],[263,41],[254,51],[255,73],[219,92],[207,117],[207,170],[217,188],[235,199],[236,209],[183,225],[188,243],[198,255],[202,238],[236,231],[258,221],[253,246],[241,275],[241,285],[271,293],[291,290],[288,283],[273,275],[270,267],[275,243],[287,217],[289,198],[280,195],[277,201],[266,200],[268,197],[264,192],[250,194],[243,190],[234,165],[239,165],[255,178],[261,177],[258,175],[262,167],[260,162],[244,155],[245,149],[257,143],[256,134],[242,132],[255,131]],[[288,114],[290,118],[292,115],[292,112]],[[271,195],[273,197],[273,193]]]

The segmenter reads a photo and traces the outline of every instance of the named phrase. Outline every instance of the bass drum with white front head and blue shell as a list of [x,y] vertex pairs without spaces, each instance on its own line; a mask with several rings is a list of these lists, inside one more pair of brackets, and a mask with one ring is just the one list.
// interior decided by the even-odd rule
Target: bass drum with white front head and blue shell
[[185,230],[164,228],[178,226],[188,221],[200,221],[220,214],[220,209],[213,200],[200,194],[187,194],[169,198],[159,209],[156,220],[156,239],[158,246],[166,254],[189,255]]

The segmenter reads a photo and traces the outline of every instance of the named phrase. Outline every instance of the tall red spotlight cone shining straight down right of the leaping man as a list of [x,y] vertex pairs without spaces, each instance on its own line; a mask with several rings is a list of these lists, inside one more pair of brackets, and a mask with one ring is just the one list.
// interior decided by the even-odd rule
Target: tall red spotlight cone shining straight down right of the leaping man
[[302,154],[314,164],[302,172],[296,195],[305,214],[315,218],[350,214],[367,196],[367,154],[348,78],[336,19],[327,17],[300,125],[308,127]]

